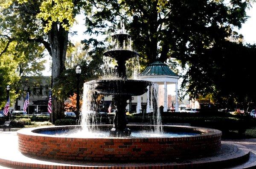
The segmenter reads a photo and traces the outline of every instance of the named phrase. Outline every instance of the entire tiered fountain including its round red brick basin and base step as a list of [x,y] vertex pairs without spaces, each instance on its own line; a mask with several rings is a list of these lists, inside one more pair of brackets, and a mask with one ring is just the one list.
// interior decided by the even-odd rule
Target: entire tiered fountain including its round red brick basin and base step
[[[117,107],[114,124],[96,125],[88,124],[87,121],[85,126],[19,130],[18,147],[26,156],[26,161],[24,157],[13,161],[10,160],[11,158],[4,160],[0,158],[0,163],[31,168],[58,168],[58,166],[81,169],[222,168],[224,165],[248,158],[250,151],[244,147],[221,145],[219,130],[163,125],[163,132],[156,133],[154,132],[156,125],[127,125],[126,101],[131,96],[146,92],[146,87],[151,83],[127,79],[125,61],[138,54],[131,48],[124,48],[125,41],[130,39],[129,34],[121,31],[120,34],[112,37],[116,39],[119,47],[105,52],[105,56],[116,59],[119,79],[85,83],[82,113],[83,117],[88,117],[88,114],[93,112],[89,109],[93,101],[89,93],[112,95]],[[103,132],[108,134],[104,136],[90,134]],[[149,133],[147,136],[145,136],[146,132]],[[27,156],[33,156],[32,158],[38,160],[33,163],[33,160],[30,161],[32,158]],[[53,162],[49,162],[50,160]],[[93,163],[90,163],[91,161]]]

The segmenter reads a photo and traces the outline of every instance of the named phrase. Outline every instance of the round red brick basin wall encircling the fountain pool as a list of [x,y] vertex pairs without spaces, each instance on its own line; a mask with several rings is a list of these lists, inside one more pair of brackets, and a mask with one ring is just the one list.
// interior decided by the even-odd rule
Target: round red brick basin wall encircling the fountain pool
[[[100,130],[109,130],[112,125],[96,125]],[[135,128],[154,127],[128,125]],[[161,138],[67,138],[45,135],[46,130],[81,130],[81,126],[37,127],[17,132],[19,151],[23,154],[63,160],[78,161],[172,161],[177,158],[205,156],[221,147],[221,131],[184,126],[164,125],[164,131],[195,132],[186,137]]]

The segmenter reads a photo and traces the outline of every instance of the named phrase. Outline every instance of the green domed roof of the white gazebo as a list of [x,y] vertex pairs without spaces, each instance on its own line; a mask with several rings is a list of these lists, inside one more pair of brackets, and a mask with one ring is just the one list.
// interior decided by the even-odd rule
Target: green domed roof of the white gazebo
[[169,76],[178,76],[174,73],[166,64],[163,62],[157,61],[148,65],[145,70],[140,74],[140,76],[148,75],[169,75]]

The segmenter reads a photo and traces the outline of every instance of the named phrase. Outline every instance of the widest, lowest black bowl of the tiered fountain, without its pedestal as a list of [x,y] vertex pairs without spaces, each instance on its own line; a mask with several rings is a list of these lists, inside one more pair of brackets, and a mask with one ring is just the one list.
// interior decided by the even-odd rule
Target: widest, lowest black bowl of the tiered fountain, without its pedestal
[[94,85],[97,94],[139,96],[147,91],[151,82],[144,80],[92,80],[87,85]]

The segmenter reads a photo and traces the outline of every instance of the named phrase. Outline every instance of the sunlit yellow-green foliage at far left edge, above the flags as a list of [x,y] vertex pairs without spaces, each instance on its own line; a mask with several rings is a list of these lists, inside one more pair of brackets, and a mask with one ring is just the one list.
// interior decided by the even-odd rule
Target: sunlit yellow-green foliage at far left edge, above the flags
[[[14,6],[0,10],[0,92],[4,92],[2,90],[5,89],[6,84],[11,86],[11,105],[24,90],[23,86],[26,81],[21,77],[40,76],[45,63],[42,59],[44,57],[43,46],[38,42],[27,43],[28,32],[30,29],[33,30],[33,26],[29,25],[27,28],[21,25],[20,22],[25,18],[16,17],[16,12]],[[21,36],[25,38],[21,39]],[[36,35],[31,36],[35,38]],[[6,102],[3,96],[0,96],[0,107]]]

